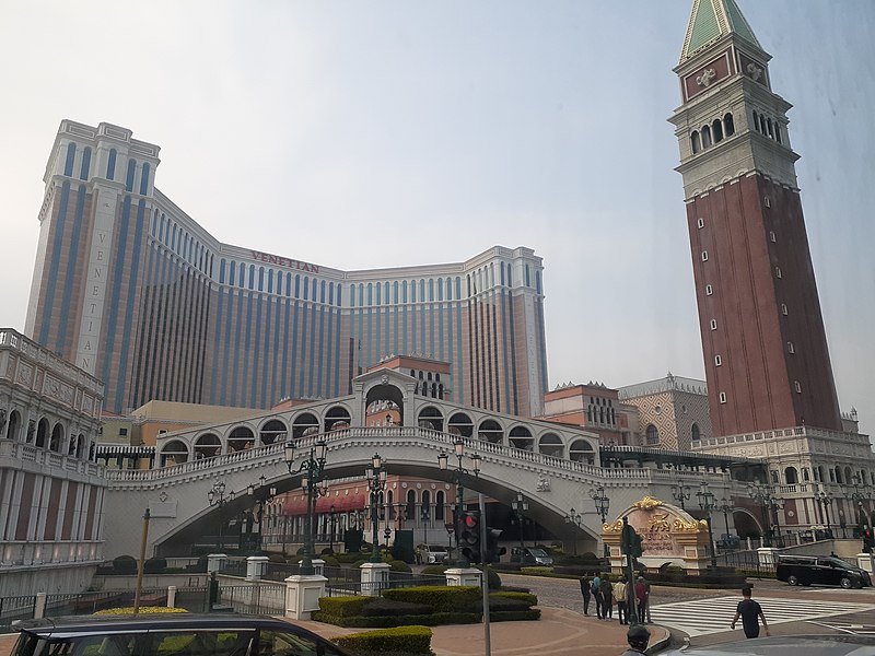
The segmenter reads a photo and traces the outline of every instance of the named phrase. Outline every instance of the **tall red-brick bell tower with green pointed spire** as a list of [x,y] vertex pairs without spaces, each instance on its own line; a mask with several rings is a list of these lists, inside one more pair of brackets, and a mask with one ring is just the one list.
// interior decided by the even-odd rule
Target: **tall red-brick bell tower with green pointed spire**
[[693,0],[670,121],[714,435],[842,429],[770,59],[734,0]]

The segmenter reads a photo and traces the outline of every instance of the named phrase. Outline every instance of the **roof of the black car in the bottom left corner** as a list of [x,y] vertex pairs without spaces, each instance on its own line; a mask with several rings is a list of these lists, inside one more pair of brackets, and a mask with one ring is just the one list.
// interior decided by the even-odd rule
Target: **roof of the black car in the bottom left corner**
[[308,631],[268,616],[222,613],[138,613],[125,616],[65,616],[20,620],[13,629],[37,635],[56,632],[88,633],[92,631],[142,631],[178,629],[275,629],[284,631]]

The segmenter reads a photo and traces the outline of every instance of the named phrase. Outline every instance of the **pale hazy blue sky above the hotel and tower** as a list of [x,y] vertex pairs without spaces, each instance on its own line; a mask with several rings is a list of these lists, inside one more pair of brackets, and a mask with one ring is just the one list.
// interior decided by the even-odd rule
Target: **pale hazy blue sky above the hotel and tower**
[[[875,430],[875,3],[737,0],[790,139],[841,409]],[[0,0],[0,325],[61,119],[161,147],[226,244],[343,270],[544,258],[550,388],[703,378],[678,145],[691,0]]]

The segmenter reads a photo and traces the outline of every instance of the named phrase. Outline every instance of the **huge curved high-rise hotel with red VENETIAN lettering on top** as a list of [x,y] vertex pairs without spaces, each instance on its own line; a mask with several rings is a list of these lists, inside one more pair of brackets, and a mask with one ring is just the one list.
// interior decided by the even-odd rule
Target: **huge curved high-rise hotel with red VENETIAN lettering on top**
[[371,366],[412,355],[448,363],[447,400],[540,413],[533,250],[343,271],[222,244],[155,188],[159,151],[125,128],[63,120],[44,177],[25,331],[104,380],[108,410],[338,397]]

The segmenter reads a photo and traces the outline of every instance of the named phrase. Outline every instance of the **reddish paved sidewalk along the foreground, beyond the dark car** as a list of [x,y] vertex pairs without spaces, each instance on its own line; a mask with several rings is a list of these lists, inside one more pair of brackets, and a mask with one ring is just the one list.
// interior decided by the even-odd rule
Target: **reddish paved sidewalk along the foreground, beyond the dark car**
[[[294,622],[326,637],[348,635],[366,629],[341,629],[320,622]],[[617,656],[626,649],[628,626],[602,622],[593,617],[563,608],[541,608],[537,622],[497,622],[490,625],[491,653],[494,656],[540,654],[583,654],[586,656]],[[662,626],[648,626],[651,646],[667,641],[668,631]],[[438,656],[482,656],[485,635],[482,624],[433,626],[431,646]],[[0,635],[0,656],[9,656],[16,634]]]

